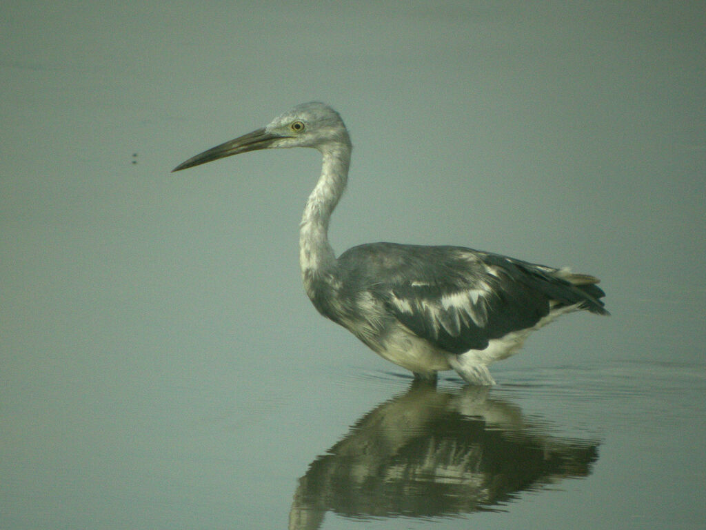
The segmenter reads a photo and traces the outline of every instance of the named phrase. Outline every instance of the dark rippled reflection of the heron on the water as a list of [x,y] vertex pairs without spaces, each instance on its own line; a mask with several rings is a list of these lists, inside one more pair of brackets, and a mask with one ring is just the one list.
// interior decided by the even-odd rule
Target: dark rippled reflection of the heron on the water
[[[345,517],[470,514],[561,478],[590,473],[594,440],[550,436],[489,390],[414,382],[361,418],[299,479],[290,530]],[[542,432],[544,431],[544,432]]]

